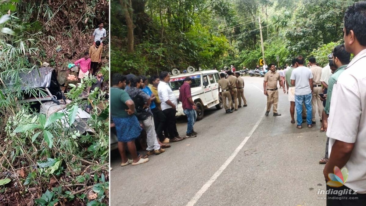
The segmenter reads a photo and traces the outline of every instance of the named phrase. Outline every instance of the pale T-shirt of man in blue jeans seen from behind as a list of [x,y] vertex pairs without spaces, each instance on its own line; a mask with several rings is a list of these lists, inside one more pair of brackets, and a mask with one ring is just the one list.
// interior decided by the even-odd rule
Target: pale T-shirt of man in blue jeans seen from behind
[[309,79],[313,78],[311,70],[306,66],[299,66],[292,70],[290,80],[295,80],[295,95],[308,95],[311,93]]

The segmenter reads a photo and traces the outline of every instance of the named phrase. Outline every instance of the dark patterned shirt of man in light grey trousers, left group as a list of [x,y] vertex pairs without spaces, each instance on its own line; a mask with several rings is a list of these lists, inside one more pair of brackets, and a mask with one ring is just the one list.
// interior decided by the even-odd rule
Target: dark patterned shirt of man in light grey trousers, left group
[[141,89],[138,89],[136,87],[130,87],[127,93],[128,95],[130,95],[131,99],[135,103],[136,117],[139,121],[144,121],[148,117],[153,115],[153,113],[150,110],[150,107],[143,108],[143,106],[147,103],[147,100],[150,99],[149,95],[147,95]]

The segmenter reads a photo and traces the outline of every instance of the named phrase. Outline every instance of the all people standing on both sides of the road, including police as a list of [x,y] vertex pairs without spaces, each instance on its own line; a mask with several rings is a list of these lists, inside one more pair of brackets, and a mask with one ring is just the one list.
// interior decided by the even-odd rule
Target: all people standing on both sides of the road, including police
[[[352,202],[356,206],[365,205],[366,202],[365,29],[366,1],[360,1],[347,9],[344,16],[344,44],[337,45],[332,54],[328,55],[328,65],[322,68],[314,57],[306,62],[303,56],[298,56],[292,60],[290,67],[286,66],[280,71],[276,70],[274,63],[269,64],[269,71],[264,77],[266,116],[269,115],[272,105],[273,116],[281,115],[277,111],[278,84],[288,94],[291,123],[296,123],[296,128],[302,129],[303,119],[306,119],[307,128],[312,128],[316,124],[316,116],[319,116],[320,132],[326,132],[328,137],[325,157],[319,161],[326,164],[325,181],[335,178],[328,174],[340,172],[339,169],[343,167],[348,169],[348,179],[344,180],[344,184],[335,187],[327,184],[326,189],[333,191],[332,194],[327,193],[327,205],[349,205]],[[354,55],[352,60],[351,54]],[[244,87],[240,74],[235,73],[236,77],[232,75],[232,71],[227,71],[227,74],[228,77],[224,73],[220,74],[219,87],[225,112],[232,113],[232,110],[236,111],[241,107],[241,103],[238,103],[239,97],[243,97],[244,106],[247,104],[240,91]],[[121,166],[148,161],[147,157],[138,155],[134,142],[141,135],[142,127],[147,132],[148,155],[161,154],[165,151],[163,147],[170,147],[166,144],[168,142],[197,136],[193,130],[197,114],[190,95],[191,79],[187,77],[184,80],[179,96],[188,117],[185,137],[180,137],[176,129],[177,99],[169,87],[169,79],[169,73],[164,71],[160,77],[151,77],[150,85],[147,86],[147,78],[143,76],[113,75],[111,116],[117,130]],[[132,159],[126,156],[125,144]],[[346,190],[356,193],[342,193],[342,199],[336,198],[341,194],[338,191]]]

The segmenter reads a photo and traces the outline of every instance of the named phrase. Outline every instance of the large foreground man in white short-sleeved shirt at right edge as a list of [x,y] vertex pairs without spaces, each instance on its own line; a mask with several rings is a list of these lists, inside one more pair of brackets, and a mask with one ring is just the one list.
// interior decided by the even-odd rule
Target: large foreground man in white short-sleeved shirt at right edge
[[[328,206],[366,204],[365,28],[366,1],[359,1],[348,7],[344,15],[344,45],[355,57],[333,87],[326,132],[330,138],[330,155],[323,171],[326,181],[329,181],[329,177],[334,179],[334,176],[328,174],[339,171],[335,167],[339,169],[345,167],[348,169],[348,179],[345,183],[327,182],[327,190],[333,190],[333,195],[327,195]],[[338,187],[330,187],[335,184],[338,184]],[[343,193],[341,196],[335,193],[347,189],[352,193],[346,195]],[[353,194],[354,192],[356,194]],[[332,199],[334,196],[342,199]]]

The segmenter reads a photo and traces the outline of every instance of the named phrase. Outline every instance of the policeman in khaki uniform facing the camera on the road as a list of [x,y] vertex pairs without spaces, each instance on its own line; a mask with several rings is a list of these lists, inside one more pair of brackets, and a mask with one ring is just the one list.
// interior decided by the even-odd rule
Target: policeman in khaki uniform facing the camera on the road
[[281,116],[281,114],[277,113],[277,104],[278,104],[278,87],[277,81],[280,82],[280,86],[283,88],[283,93],[286,93],[286,89],[283,85],[283,81],[281,80],[280,73],[276,71],[276,66],[274,63],[268,65],[270,71],[268,71],[264,75],[264,83],[263,90],[264,95],[267,96],[267,111],[266,116],[268,116],[269,111],[271,110],[271,106],[273,104],[273,116]]

